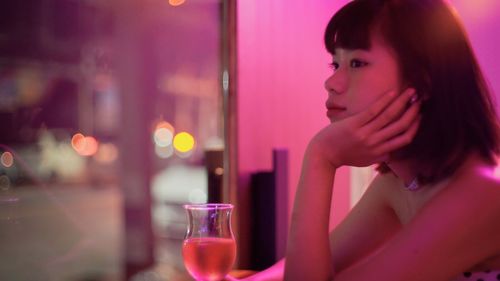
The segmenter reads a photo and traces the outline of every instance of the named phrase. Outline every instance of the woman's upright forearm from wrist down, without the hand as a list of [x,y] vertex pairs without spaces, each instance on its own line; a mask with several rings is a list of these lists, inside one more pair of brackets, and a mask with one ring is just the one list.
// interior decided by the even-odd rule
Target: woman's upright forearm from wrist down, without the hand
[[309,145],[297,187],[288,237],[285,280],[328,280],[333,276],[329,216],[335,167]]

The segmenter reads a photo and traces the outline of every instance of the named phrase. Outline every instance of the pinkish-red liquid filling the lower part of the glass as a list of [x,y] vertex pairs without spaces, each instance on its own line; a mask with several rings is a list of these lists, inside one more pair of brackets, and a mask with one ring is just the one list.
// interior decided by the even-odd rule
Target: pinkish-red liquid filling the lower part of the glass
[[182,245],[184,264],[196,280],[222,280],[236,258],[236,243],[230,238],[189,238]]

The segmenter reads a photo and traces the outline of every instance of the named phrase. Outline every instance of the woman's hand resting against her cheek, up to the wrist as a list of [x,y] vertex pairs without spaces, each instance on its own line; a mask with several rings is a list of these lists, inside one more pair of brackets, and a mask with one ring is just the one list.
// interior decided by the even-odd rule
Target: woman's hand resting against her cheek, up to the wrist
[[334,168],[385,161],[390,152],[413,140],[420,124],[419,110],[414,89],[400,95],[389,92],[366,110],[322,129],[308,150],[318,153]]

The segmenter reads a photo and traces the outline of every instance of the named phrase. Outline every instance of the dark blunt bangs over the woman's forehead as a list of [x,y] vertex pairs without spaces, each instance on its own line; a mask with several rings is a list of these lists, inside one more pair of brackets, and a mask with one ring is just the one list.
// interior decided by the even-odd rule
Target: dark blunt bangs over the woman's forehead
[[325,30],[325,47],[330,54],[336,48],[370,49],[371,34],[380,24],[379,14],[384,5],[378,1],[352,1],[340,9]]

